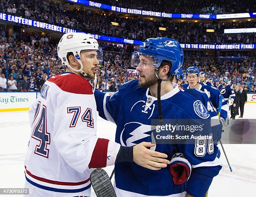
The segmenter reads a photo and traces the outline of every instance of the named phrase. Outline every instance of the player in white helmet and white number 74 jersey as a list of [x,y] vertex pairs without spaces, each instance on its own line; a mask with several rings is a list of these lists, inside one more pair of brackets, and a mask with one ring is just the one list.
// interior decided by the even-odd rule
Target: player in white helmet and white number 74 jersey
[[85,33],[64,34],[58,56],[67,66],[66,72],[44,83],[29,111],[32,128],[25,159],[25,188],[29,188],[30,196],[89,197],[93,168],[115,162],[134,161],[154,170],[166,167],[169,160],[159,158],[166,154],[145,147],[154,144],[126,147],[96,136],[96,102],[87,79],[95,78],[102,60],[97,40]]

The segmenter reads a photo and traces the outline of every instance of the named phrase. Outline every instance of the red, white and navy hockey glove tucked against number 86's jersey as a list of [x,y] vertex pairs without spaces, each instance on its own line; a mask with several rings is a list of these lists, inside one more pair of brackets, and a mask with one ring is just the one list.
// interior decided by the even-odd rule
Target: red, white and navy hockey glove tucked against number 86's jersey
[[183,184],[191,174],[192,166],[183,153],[175,153],[170,161],[170,171],[174,184]]

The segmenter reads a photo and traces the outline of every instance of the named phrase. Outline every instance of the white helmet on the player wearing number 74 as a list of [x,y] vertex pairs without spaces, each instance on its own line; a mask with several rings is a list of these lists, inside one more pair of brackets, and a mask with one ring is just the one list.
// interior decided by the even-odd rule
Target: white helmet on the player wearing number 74
[[[103,61],[102,48],[99,47],[97,40],[92,35],[86,33],[65,33],[58,44],[58,56],[61,59],[63,65],[69,67],[72,71],[80,72],[83,76],[87,74],[83,71],[83,65],[80,60],[80,52],[82,50],[93,50],[97,51],[97,59]],[[75,70],[69,65],[67,60],[67,53],[72,52],[76,60],[80,63],[81,68]]]

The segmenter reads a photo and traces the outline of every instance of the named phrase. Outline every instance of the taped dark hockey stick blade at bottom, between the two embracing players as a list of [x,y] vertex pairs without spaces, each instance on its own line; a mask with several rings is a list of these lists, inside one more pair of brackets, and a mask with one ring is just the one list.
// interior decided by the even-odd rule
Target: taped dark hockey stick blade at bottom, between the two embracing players
[[116,197],[111,180],[104,169],[98,168],[92,171],[90,179],[97,197]]

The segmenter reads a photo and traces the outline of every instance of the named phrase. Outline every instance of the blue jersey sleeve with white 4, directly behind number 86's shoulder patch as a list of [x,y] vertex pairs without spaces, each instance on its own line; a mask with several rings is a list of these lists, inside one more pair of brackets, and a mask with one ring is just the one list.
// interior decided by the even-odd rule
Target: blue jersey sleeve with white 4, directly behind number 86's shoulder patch
[[193,89],[187,88],[187,89],[184,89],[184,91],[194,96],[195,98],[200,100],[202,104],[204,104],[205,108],[207,109],[212,119],[211,128],[212,128],[212,134],[214,135],[213,139],[215,139],[216,141],[219,141],[222,133],[222,124],[220,124],[217,111],[215,107],[212,105],[210,98],[207,96],[205,92],[198,90],[196,88],[193,88]]

